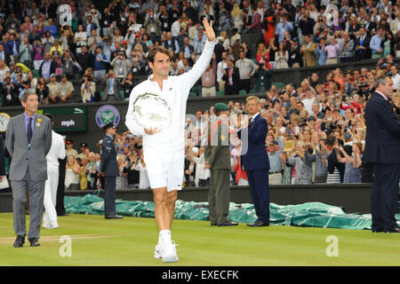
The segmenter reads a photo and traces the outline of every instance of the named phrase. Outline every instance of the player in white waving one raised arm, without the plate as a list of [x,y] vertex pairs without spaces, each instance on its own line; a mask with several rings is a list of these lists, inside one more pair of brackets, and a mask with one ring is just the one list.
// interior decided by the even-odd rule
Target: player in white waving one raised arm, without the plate
[[[204,35],[208,41],[203,54],[193,68],[179,76],[169,76],[171,59],[169,51],[155,47],[148,54],[148,67],[153,74],[148,80],[135,86],[129,99],[125,124],[132,134],[143,135],[144,161],[148,170],[148,180],[153,189],[155,216],[159,229],[155,257],[163,262],[176,262],[175,243],[172,241],[171,225],[175,213],[175,201],[182,188],[185,157],[184,125],[188,93],[197,82],[212,59],[215,34],[212,22],[203,20]],[[133,107],[140,95],[151,93],[164,99],[171,107],[172,119],[164,129],[145,129],[133,117]]]

